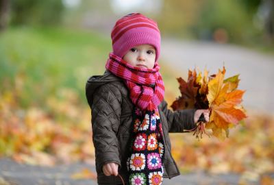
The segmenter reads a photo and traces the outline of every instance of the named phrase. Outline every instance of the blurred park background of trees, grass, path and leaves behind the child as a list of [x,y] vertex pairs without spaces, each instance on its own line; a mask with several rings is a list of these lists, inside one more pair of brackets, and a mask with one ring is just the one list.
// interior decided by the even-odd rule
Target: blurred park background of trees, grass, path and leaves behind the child
[[0,0],[0,157],[94,165],[85,84],[103,74],[112,27],[130,12],[158,22],[169,106],[195,67],[225,66],[247,90],[248,118],[229,138],[170,134],[180,171],[274,183],[273,0]]

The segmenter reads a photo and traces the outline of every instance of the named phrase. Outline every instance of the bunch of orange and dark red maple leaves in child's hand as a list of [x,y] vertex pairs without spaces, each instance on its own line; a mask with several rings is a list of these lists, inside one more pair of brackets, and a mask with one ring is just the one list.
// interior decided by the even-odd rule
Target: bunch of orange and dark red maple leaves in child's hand
[[194,134],[201,138],[202,134],[208,134],[206,130],[212,130],[217,138],[225,138],[229,135],[229,128],[238,125],[247,116],[240,105],[245,90],[238,90],[239,75],[225,78],[225,67],[216,75],[208,76],[208,71],[197,75],[196,70],[188,71],[188,81],[182,77],[179,82],[179,90],[182,96],[172,104],[173,110],[179,109],[210,109],[210,121],[206,124],[199,121]]

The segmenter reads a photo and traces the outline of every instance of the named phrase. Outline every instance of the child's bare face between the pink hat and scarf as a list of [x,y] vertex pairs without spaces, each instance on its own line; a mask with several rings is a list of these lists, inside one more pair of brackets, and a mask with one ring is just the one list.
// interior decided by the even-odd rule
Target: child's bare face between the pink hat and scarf
[[156,58],[155,48],[151,45],[138,45],[129,49],[123,60],[140,68],[153,69]]

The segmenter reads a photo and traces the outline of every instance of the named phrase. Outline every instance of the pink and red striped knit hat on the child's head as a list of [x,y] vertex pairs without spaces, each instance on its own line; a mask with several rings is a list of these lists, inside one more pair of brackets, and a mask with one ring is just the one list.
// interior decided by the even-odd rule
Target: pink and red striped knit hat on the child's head
[[155,62],[160,56],[161,36],[155,21],[140,13],[132,13],[120,18],[112,29],[112,49],[116,56],[137,45],[153,45],[156,49]]

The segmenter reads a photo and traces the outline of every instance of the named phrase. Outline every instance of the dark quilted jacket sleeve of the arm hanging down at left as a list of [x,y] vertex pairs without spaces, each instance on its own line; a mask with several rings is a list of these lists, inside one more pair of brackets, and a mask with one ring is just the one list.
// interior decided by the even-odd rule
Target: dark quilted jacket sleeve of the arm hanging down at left
[[115,162],[121,166],[116,133],[120,124],[121,93],[116,86],[105,84],[94,93],[92,103],[92,141],[95,161],[102,171],[103,164]]

